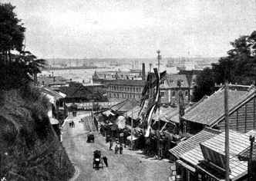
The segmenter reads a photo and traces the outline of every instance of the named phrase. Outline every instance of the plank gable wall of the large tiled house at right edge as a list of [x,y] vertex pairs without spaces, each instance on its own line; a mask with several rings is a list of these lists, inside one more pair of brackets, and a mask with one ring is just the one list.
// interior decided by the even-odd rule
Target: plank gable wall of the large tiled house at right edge
[[[241,133],[256,129],[256,97],[229,116],[229,126],[231,130]],[[224,120],[218,123],[217,127],[225,130]]]

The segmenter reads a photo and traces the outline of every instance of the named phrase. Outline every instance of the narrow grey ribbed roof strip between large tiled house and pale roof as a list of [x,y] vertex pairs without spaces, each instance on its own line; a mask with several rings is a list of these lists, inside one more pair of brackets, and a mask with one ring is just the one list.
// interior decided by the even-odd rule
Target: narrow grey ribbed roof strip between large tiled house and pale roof
[[[179,159],[181,155],[187,153],[190,150],[193,150],[195,147],[199,147],[199,143],[204,142],[205,140],[209,140],[210,138],[216,136],[217,134],[221,133],[219,130],[214,130],[211,128],[205,128],[201,130],[199,133],[195,134],[193,137],[188,138],[180,143],[177,146],[170,149],[170,153]],[[191,156],[193,159],[194,156]]]

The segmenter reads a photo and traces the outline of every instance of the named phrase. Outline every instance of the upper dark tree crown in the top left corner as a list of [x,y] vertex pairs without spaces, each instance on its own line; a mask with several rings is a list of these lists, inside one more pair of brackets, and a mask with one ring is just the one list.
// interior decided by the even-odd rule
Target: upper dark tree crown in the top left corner
[[15,6],[10,3],[0,3],[0,54],[2,60],[11,60],[11,51],[22,51],[25,38],[25,27],[13,10]]

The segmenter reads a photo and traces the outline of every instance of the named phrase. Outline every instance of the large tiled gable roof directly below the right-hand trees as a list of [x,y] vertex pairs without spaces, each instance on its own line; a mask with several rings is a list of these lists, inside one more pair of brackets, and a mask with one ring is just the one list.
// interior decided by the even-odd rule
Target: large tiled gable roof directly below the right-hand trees
[[[255,89],[251,91],[233,91],[228,90],[228,107],[230,114],[237,107],[241,106],[245,100],[248,100],[251,96],[254,96]],[[202,123],[207,126],[212,126],[224,117],[224,89],[212,94],[207,99],[204,99],[196,107],[187,111],[184,115],[185,120],[192,122]]]

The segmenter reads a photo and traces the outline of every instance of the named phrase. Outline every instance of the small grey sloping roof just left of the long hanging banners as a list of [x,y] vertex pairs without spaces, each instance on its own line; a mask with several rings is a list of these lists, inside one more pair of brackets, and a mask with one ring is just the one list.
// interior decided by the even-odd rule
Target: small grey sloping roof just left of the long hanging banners
[[120,102],[119,104],[116,104],[113,107],[110,107],[110,109],[117,112],[126,112],[128,110],[131,110],[133,107],[136,107],[139,104],[140,103],[134,98],[126,99]]

